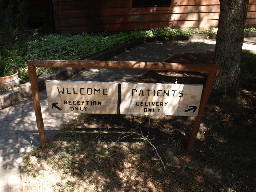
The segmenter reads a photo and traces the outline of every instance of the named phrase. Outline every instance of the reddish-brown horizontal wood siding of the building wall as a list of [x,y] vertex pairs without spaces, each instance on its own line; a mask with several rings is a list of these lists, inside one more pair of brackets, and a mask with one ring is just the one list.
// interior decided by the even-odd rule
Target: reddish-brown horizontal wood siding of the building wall
[[[174,0],[173,9],[132,8],[131,3],[132,0],[53,0],[56,32],[89,32],[92,27],[118,31],[218,26],[219,0]],[[256,25],[256,0],[250,0],[246,25]]]

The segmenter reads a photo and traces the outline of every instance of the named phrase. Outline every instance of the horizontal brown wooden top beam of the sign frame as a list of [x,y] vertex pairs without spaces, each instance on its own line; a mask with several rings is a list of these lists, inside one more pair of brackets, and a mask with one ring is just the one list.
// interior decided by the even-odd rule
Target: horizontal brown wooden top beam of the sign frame
[[219,70],[217,64],[180,64],[139,61],[92,61],[92,60],[27,60],[28,66],[35,67],[79,67],[79,68],[127,68],[169,71],[212,71]]

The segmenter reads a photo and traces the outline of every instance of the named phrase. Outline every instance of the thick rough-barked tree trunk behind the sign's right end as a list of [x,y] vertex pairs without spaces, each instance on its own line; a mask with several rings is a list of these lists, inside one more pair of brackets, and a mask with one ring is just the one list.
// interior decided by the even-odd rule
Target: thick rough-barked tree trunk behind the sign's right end
[[220,0],[214,62],[220,64],[213,92],[240,94],[240,61],[249,0]]

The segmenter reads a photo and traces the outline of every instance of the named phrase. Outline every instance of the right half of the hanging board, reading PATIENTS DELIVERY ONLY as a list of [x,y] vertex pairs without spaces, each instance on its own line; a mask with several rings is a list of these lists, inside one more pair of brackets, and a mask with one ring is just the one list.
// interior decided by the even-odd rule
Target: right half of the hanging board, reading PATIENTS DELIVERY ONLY
[[120,114],[197,116],[203,85],[122,83]]

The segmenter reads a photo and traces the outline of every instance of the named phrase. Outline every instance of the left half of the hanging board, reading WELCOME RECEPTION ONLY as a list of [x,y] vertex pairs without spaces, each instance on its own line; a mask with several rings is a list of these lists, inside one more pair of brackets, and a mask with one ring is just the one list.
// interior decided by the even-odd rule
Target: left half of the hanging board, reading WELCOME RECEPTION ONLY
[[117,114],[118,83],[46,81],[49,112]]

